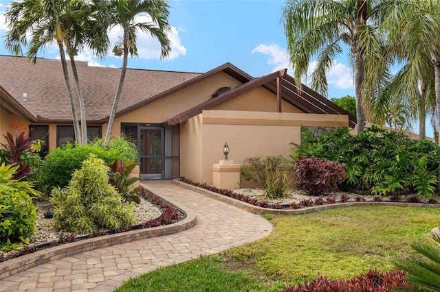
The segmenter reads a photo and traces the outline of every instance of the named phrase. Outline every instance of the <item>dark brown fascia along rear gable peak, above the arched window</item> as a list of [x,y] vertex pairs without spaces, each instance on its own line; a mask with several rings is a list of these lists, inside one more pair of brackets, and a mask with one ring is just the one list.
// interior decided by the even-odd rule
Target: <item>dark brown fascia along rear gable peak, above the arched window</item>
[[[170,95],[172,93],[175,93],[177,90],[181,90],[182,88],[185,88],[186,86],[190,86],[192,84],[195,84],[203,79],[206,79],[214,74],[217,74],[219,72],[223,71],[224,73],[230,75],[231,77],[234,77],[236,80],[239,80],[242,83],[249,82],[249,80],[254,79],[252,76],[250,76],[248,73],[245,73],[244,71],[241,71],[241,69],[237,68],[231,63],[225,63],[221,66],[218,66],[215,69],[212,69],[211,71],[208,71],[206,73],[201,73],[201,75],[192,78],[191,80],[188,80],[182,84],[179,84],[173,88],[170,88],[163,93],[159,93],[158,95],[155,95],[154,97],[151,97],[149,99],[146,99],[140,103],[137,103],[133,106],[129,106],[129,108],[125,108],[124,110],[121,110],[120,112],[116,113],[116,117],[120,117],[124,114],[127,114],[129,112],[132,112],[133,110],[137,110],[138,108],[141,108],[142,106],[146,106],[147,104],[151,104],[153,101],[156,101],[157,99],[161,99],[162,97],[166,97],[167,95]],[[109,117],[105,117],[102,119],[102,121],[108,121]]]

